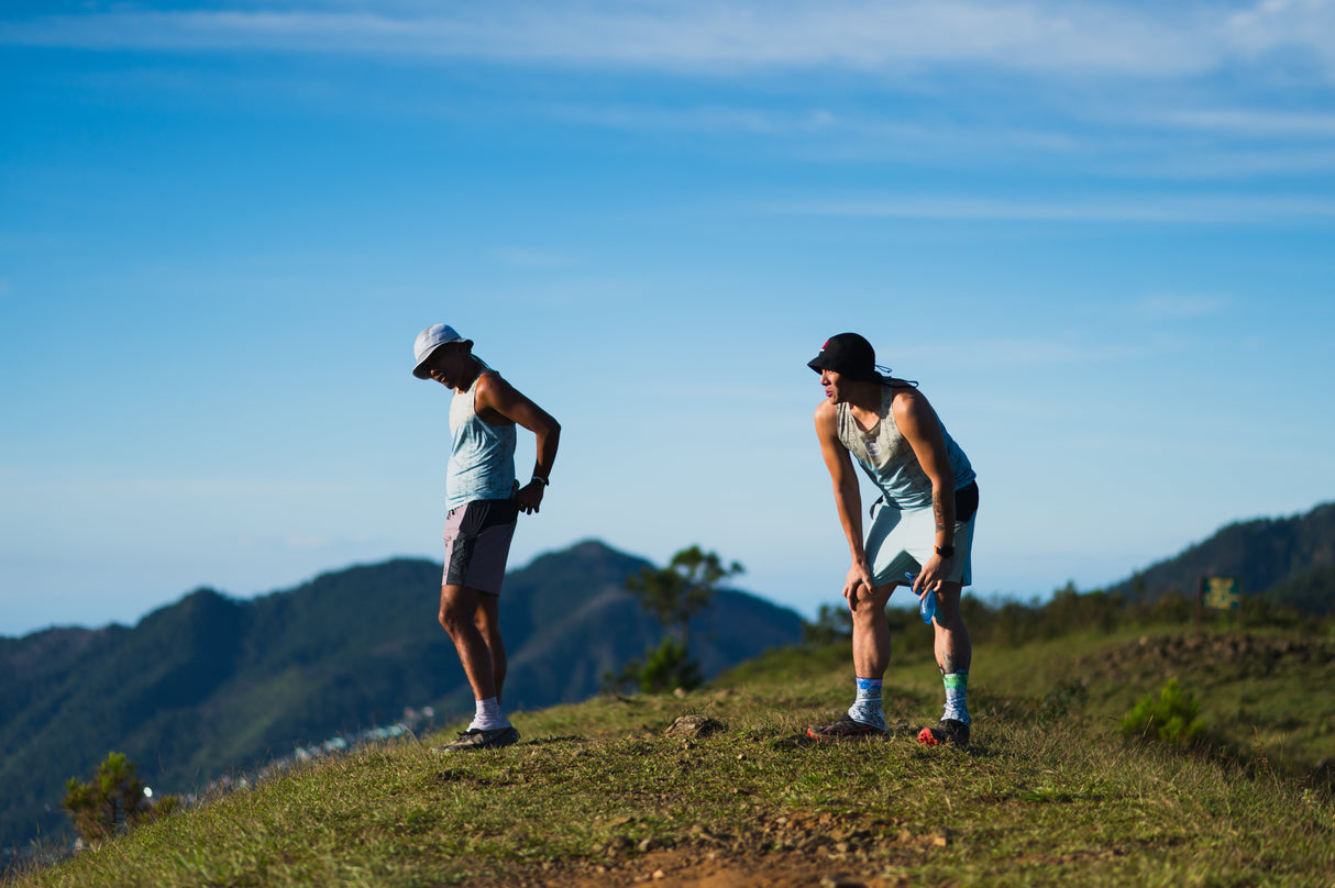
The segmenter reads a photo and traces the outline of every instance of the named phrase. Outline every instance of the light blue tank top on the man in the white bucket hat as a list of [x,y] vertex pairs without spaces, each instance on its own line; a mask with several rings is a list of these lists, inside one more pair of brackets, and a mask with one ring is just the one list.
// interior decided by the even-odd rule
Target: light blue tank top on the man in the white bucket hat
[[[482,361],[478,361],[482,364]],[[482,372],[491,368],[482,364]],[[493,425],[474,407],[478,380],[450,401],[450,465],[445,473],[446,508],[473,500],[509,500],[514,495],[514,423]]]

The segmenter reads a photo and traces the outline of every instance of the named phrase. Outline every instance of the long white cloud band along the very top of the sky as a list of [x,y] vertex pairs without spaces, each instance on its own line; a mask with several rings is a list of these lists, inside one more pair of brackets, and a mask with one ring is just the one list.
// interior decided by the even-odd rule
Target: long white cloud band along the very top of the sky
[[0,43],[142,49],[394,53],[670,72],[902,71],[983,64],[1021,72],[1176,77],[1278,48],[1330,61],[1331,3],[1236,15],[1112,3],[980,0],[589,0],[324,4],[108,12],[0,24]]

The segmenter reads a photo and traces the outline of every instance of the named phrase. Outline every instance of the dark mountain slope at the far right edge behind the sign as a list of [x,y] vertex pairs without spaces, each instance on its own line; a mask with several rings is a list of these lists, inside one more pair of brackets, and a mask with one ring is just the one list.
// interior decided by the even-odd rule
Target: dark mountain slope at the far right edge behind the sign
[[1331,613],[1335,503],[1323,503],[1304,515],[1228,524],[1108,591],[1147,599],[1172,589],[1193,596],[1202,576],[1236,577],[1243,595],[1262,595],[1308,613]]

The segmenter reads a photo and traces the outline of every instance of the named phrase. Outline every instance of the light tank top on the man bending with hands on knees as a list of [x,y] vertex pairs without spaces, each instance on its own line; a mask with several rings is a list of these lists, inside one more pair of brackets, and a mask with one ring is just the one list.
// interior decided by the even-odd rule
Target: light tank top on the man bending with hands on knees
[[[881,420],[870,432],[862,431],[857,420],[853,419],[848,404],[837,405],[838,440],[853,455],[872,483],[885,495],[886,505],[897,509],[924,508],[932,505],[932,479],[918,465],[913,447],[894,424],[894,412],[890,409],[893,401],[894,388],[882,385]],[[937,417],[937,423],[941,423],[940,417]],[[959,491],[973,483],[976,477],[973,465],[969,464],[969,457],[964,455],[951,433],[945,431],[944,424],[941,424],[941,436],[945,439],[951,468],[955,471],[955,489]]]

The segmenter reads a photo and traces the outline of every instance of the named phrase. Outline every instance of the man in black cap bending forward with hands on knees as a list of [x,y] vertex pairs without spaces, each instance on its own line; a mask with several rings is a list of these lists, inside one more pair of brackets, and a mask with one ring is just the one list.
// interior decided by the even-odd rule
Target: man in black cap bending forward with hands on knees
[[[816,740],[885,736],[881,679],[890,659],[885,604],[897,585],[910,585],[920,600],[936,596],[934,649],[945,683],[941,723],[924,728],[918,739],[968,745],[965,693],[973,649],[960,595],[973,581],[979,504],[973,467],[917,384],[877,372],[870,343],[857,333],[830,337],[808,367],[821,375],[825,388],[816,433],[853,561],[844,597],[853,615],[857,700],[845,717],[806,733]],[[854,459],[881,491],[865,539]]]

